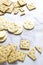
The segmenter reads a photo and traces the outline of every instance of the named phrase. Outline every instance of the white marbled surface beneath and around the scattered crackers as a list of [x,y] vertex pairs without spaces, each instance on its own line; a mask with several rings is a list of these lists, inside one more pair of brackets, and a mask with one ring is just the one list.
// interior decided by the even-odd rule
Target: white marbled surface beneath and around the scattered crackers
[[[17,1],[17,0],[12,0]],[[29,39],[30,40],[30,47],[34,47],[35,45],[40,45],[43,49],[43,0],[26,0],[28,3],[34,3],[36,6],[36,9],[33,11],[29,11],[26,6],[24,7],[25,15],[20,16],[20,12],[17,15],[12,14],[5,14],[4,16],[13,21],[20,23],[21,25],[25,20],[32,20],[35,23],[35,28],[33,30],[27,31],[23,30],[21,35],[13,35],[7,32],[8,38],[7,40],[2,43],[3,45],[14,43],[17,45],[18,49],[20,49],[20,39]],[[28,51],[26,51],[28,52]],[[43,65],[43,50],[42,54],[38,53],[36,51],[37,60],[33,61],[28,56],[26,56],[24,62],[17,61],[14,64],[0,64],[0,65]]]

